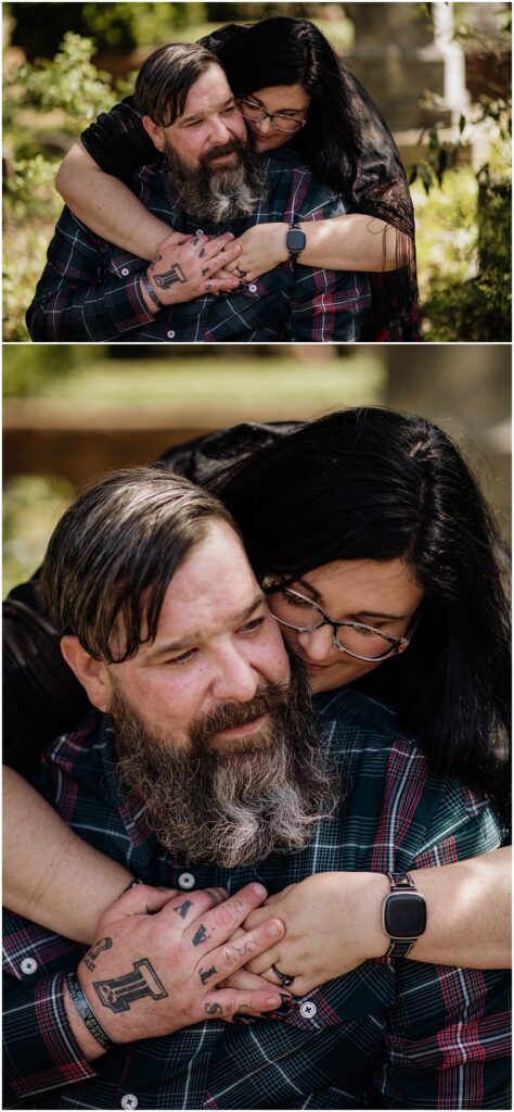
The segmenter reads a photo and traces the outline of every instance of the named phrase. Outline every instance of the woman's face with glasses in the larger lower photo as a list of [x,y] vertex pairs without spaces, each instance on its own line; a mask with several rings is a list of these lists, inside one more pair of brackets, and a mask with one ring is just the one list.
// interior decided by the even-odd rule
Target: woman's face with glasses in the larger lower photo
[[[291,589],[315,602],[335,622],[362,623],[394,638],[405,636],[423,598],[412,568],[403,559],[334,560],[309,572],[291,584]],[[269,604],[272,614],[295,625],[309,626],[321,619],[301,600],[296,607],[296,600],[288,592],[269,595]],[[299,633],[282,624],[281,629],[290,648],[303,662],[313,692],[342,687],[382,663],[342,653],[334,645],[334,631],[329,625],[311,633]],[[339,638],[362,656],[387,653],[391,646],[391,642],[351,627],[342,627]]]

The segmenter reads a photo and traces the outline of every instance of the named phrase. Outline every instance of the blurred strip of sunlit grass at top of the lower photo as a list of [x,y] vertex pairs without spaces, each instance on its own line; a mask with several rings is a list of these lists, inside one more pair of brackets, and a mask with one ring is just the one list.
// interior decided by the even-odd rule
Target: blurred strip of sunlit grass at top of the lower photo
[[[31,349],[34,353],[34,349]],[[61,349],[62,350],[62,349]],[[229,351],[226,361],[220,358],[168,358],[109,360],[98,357],[97,347],[85,348],[91,361],[63,375],[44,377],[41,358],[47,349],[38,349],[40,363],[32,389],[26,389],[23,375],[30,375],[27,353],[18,348],[4,349],[4,381],[8,397],[32,397],[65,403],[94,404],[94,408],[115,406],[118,409],[133,405],[152,407],[164,403],[170,408],[188,406],[189,409],[216,410],[233,406],[269,406],[270,416],[280,406],[289,405],[291,413],[300,404],[312,411],[334,405],[379,401],[385,384],[385,371],[379,354],[366,349],[355,351],[350,358],[324,361],[318,357],[313,345],[312,359],[305,364],[288,358],[252,357],[244,351],[238,358]],[[36,353],[34,353],[36,354]],[[48,349],[49,361],[52,358]],[[17,364],[19,363],[20,375]],[[8,405],[8,403],[7,403]]]

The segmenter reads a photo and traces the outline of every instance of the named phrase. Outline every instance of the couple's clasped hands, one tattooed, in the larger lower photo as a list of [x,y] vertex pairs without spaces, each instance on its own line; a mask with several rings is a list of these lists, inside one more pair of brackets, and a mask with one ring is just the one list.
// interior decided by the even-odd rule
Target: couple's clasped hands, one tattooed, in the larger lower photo
[[[260,884],[233,895],[138,885],[102,915],[79,980],[115,1042],[209,1019],[283,1017],[293,995],[374,956],[352,900],[366,898],[366,877],[320,873],[268,898]],[[294,977],[290,992],[273,965]]]

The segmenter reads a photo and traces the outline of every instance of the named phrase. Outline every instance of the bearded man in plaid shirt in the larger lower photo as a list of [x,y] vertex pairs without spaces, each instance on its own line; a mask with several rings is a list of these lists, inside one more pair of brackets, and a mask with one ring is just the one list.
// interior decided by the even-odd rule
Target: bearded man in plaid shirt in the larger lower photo
[[228,513],[185,479],[94,484],[43,582],[100,716],[49,748],[37,784],[168,888],[127,892],[85,955],[8,915],[4,1106],[510,1106],[501,972],[381,959],[289,1007],[234,974],[270,951],[285,975],[272,905],[246,922],[256,878],[281,891],[323,868],[484,852],[498,842],[485,801],[432,776],[353,693],[324,698],[316,737]]

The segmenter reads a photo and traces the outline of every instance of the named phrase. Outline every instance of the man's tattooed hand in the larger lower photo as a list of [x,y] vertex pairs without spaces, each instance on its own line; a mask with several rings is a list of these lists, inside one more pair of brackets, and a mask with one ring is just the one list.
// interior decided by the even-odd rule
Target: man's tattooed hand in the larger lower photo
[[[278,919],[232,939],[266,895],[248,884],[225,898],[220,888],[175,894],[138,885],[102,916],[99,936],[78,969],[100,1023],[115,1042],[150,1039],[202,1020],[273,1011],[272,989],[218,987],[251,957],[280,940]],[[252,982],[256,983],[256,982]],[[68,1005],[72,1015],[72,1005]],[[77,1021],[73,1030],[78,1034]],[[91,1053],[91,1036],[79,1037]]]

